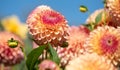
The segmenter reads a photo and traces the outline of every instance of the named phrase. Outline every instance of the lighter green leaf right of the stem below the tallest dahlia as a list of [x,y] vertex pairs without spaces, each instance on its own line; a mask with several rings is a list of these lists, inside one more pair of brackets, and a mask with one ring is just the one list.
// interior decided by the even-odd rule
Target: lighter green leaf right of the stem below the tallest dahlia
[[49,45],[50,59],[51,59],[52,61],[54,61],[56,64],[59,65],[60,59],[59,59],[59,57],[58,57],[58,55],[57,55],[57,52],[56,52],[55,49],[51,46],[50,43],[48,43],[48,45]]

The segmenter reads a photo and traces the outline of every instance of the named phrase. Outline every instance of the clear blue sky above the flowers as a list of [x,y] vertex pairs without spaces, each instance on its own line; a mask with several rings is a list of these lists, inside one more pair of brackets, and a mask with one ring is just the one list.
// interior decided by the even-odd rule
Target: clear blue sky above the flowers
[[79,11],[80,5],[88,7],[89,12],[103,8],[103,0],[0,0],[0,18],[17,15],[22,22],[29,13],[39,5],[48,5],[60,12],[69,25],[80,25],[85,22],[88,13]]

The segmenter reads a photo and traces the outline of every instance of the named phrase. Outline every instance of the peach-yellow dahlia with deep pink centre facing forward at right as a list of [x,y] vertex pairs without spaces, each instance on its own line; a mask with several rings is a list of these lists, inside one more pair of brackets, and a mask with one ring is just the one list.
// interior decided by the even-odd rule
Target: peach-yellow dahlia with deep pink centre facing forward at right
[[87,51],[111,59],[114,65],[120,61],[120,32],[114,27],[103,26],[93,30],[84,46],[89,48]]

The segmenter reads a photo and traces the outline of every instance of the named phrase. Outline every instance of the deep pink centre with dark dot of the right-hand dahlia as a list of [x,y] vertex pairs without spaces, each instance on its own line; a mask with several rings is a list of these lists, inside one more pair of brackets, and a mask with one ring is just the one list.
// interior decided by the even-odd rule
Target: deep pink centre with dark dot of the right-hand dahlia
[[106,34],[100,39],[103,53],[114,53],[118,47],[118,40],[114,35]]

